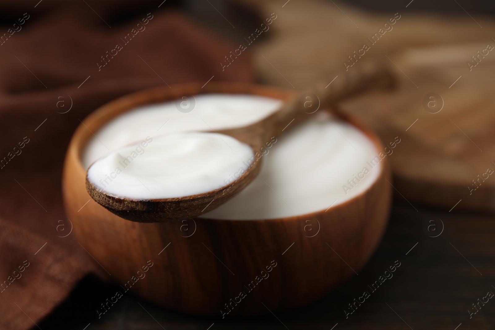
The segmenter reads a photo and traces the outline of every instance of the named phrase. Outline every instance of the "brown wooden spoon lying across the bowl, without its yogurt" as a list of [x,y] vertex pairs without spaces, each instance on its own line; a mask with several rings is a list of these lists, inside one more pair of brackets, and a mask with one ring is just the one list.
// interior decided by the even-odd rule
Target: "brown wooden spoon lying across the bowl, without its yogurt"
[[[349,71],[326,87],[315,88],[311,92],[295,97],[274,114],[242,128],[218,131],[249,144],[253,153],[261,152],[265,143],[272,137],[280,137],[302,121],[310,118],[319,108],[327,108],[350,96],[376,89],[391,89],[395,79],[385,66],[369,65],[360,70]],[[164,222],[181,220],[200,215],[225,203],[244,189],[259,173],[261,160],[255,161],[238,180],[222,189],[216,189],[196,195],[134,200],[108,195],[88,180],[86,172],[86,189],[90,196],[110,212],[121,218],[136,222]]]

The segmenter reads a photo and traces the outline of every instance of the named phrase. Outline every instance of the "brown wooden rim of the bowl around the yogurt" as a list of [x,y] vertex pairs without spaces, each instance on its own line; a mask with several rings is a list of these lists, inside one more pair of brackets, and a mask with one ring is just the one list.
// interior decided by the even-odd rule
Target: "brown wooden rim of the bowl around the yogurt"
[[[66,157],[72,157],[75,159],[75,166],[77,171],[86,173],[87,169],[82,163],[82,154],[84,148],[86,147],[88,141],[92,136],[96,136],[97,133],[103,126],[108,122],[116,118],[117,116],[129,112],[138,106],[173,101],[179,98],[180,95],[198,95],[198,94],[255,94],[260,96],[267,96],[279,99],[287,99],[296,94],[295,91],[288,89],[274,87],[269,85],[261,84],[251,84],[251,83],[232,83],[232,82],[210,82],[207,88],[205,86],[201,87],[199,83],[182,83],[173,84],[171,86],[159,86],[153,88],[147,88],[139,90],[133,93],[125,94],[118,98],[115,98],[93,110],[88,116],[86,116],[81,123],[78,125],[74,134],[69,142],[69,147]],[[184,92],[188,91],[188,92]],[[189,93],[193,91],[193,93]],[[197,92],[197,93],[194,93]],[[276,96],[274,96],[274,94]],[[174,97],[175,96],[175,97]],[[322,109],[323,110],[323,109]],[[349,123],[350,125],[357,128],[361,133],[363,133],[370,141],[372,141],[378,153],[381,153],[384,149],[383,142],[380,138],[364,124],[362,124],[355,117],[348,115],[340,110],[338,106],[332,108],[332,114],[337,118]],[[326,111],[326,110],[323,110]],[[90,128],[93,128],[93,131]],[[333,210],[341,209],[346,207],[349,203],[354,202],[356,199],[361,198],[363,195],[367,194],[371,189],[373,189],[387,174],[387,169],[389,168],[388,157],[381,158],[380,161],[380,173],[376,177],[375,181],[366,189],[361,191],[354,197],[338,204],[332,206]],[[86,175],[84,176],[86,177]],[[390,182],[389,182],[390,183]],[[304,213],[300,215],[281,217],[281,218],[268,218],[268,219],[215,219],[215,218],[198,218],[199,221],[297,221],[301,217],[315,217],[321,213],[325,213],[327,210],[318,210],[310,213]],[[123,219],[125,220],[125,219]],[[129,221],[129,220],[126,220]]]

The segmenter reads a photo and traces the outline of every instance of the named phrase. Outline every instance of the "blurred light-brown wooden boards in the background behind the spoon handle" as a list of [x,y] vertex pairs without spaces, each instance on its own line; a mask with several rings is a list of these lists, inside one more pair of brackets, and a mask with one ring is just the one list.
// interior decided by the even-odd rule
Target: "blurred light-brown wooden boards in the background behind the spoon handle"
[[[337,81],[373,60],[394,68],[401,79],[395,94],[359,97],[343,108],[384,141],[404,141],[391,156],[398,195],[447,211],[459,201],[459,208],[495,210],[495,179],[485,175],[472,182],[495,170],[495,50],[486,50],[495,46],[494,19],[417,13],[409,10],[414,2],[408,8],[397,2],[380,14],[331,1],[291,1],[283,8],[278,1],[243,2],[256,4],[261,15],[277,14],[271,38],[252,46],[259,79],[266,83],[297,89],[336,75]],[[392,30],[375,44],[369,41],[398,16]],[[371,49],[346,71],[344,62],[352,64],[348,57],[365,43]],[[470,68],[467,62],[476,64],[472,56],[478,51],[485,56]],[[438,113],[423,105],[430,93],[443,99]]]

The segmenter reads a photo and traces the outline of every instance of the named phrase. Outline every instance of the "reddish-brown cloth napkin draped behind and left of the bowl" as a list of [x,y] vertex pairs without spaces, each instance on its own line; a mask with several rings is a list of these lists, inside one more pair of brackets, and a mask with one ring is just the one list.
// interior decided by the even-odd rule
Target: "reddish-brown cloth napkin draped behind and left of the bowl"
[[109,27],[84,2],[42,5],[0,25],[0,329],[7,330],[36,328],[82,277],[104,276],[70,234],[62,205],[62,163],[80,120],[143,88],[253,80],[248,55],[222,71],[235,45],[176,11],[154,5]]

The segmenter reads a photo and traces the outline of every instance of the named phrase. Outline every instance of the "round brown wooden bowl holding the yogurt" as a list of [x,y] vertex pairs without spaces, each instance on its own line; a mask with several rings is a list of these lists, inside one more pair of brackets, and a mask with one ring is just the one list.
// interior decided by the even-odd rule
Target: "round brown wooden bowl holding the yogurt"
[[[91,199],[81,154],[92,132],[136,106],[200,93],[280,99],[294,95],[271,87],[212,82],[203,89],[196,84],[149,89],[100,107],[79,125],[69,144],[62,182],[67,216],[80,244],[122,285],[121,294],[131,289],[193,314],[255,315],[308,303],[358,272],[387,224],[392,192],[386,181],[391,181],[388,157],[381,161],[376,182],[362,194],[327,212],[290,218],[137,223]],[[373,133],[344,119],[383,150]]]

